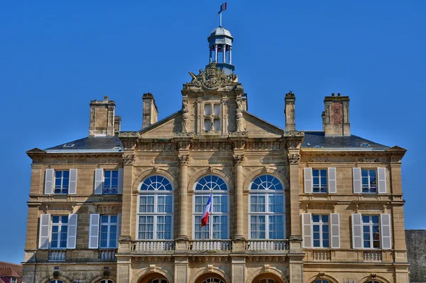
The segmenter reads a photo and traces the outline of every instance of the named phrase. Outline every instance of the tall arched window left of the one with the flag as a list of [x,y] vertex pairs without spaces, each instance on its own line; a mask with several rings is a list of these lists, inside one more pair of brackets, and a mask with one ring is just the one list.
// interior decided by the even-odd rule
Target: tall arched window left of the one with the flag
[[138,240],[173,239],[173,188],[159,175],[143,180],[138,196]]

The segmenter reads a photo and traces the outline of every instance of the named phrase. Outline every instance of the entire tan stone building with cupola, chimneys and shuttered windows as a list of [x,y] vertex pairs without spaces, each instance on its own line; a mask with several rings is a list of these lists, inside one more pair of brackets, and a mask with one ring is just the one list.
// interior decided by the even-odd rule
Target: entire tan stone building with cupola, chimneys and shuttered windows
[[405,149],[351,134],[340,94],[322,131],[296,130],[292,92],[285,129],[250,114],[234,38],[208,39],[178,112],[158,121],[147,93],[142,129],[122,132],[104,97],[89,137],[27,151],[23,282],[408,282]]

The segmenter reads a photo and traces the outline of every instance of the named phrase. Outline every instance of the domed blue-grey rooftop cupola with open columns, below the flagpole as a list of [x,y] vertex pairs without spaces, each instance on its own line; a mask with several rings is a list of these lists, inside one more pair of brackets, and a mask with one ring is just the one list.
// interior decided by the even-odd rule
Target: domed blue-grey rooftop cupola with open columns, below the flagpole
[[217,68],[224,70],[226,75],[234,73],[235,67],[232,65],[232,42],[234,38],[231,33],[222,26],[214,28],[209,41],[209,63],[216,63]]

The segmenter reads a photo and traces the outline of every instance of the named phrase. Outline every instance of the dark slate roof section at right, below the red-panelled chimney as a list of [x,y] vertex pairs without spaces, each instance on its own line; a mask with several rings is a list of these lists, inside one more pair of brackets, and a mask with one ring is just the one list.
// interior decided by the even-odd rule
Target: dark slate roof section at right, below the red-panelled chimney
[[[368,146],[366,144],[368,144]],[[325,137],[322,131],[305,131],[302,149],[375,151],[390,149],[390,147],[371,142],[368,139],[355,136],[354,134],[348,137]]]

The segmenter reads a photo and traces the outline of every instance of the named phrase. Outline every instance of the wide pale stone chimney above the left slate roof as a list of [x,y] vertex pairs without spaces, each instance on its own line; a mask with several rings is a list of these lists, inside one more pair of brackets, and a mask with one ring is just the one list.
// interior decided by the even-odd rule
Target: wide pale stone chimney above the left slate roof
[[114,136],[115,102],[107,96],[103,101],[90,102],[89,137]]

